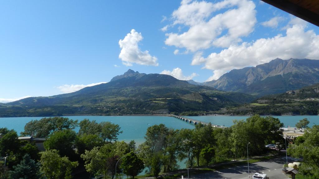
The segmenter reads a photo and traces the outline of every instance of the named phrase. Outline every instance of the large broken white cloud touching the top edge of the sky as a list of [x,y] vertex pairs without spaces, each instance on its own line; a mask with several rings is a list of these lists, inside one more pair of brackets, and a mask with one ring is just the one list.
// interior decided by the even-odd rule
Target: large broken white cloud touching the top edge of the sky
[[[221,9],[227,11],[213,14]],[[180,24],[189,29],[182,33],[167,33],[165,44],[192,52],[237,44],[241,37],[253,32],[257,22],[255,4],[248,0],[224,0],[215,4],[183,0],[172,19],[172,25]]]

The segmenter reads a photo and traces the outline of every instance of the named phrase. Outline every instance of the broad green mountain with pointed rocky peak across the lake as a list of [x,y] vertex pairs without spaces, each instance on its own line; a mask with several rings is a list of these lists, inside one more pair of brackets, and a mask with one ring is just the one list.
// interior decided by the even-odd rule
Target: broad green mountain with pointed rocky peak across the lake
[[[29,97],[0,107],[0,116],[121,115],[216,111],[254,97],[197,86],[169,75],[129,70],[108,83],[51,97]],[[46,114],[46,115],[45,115]]]

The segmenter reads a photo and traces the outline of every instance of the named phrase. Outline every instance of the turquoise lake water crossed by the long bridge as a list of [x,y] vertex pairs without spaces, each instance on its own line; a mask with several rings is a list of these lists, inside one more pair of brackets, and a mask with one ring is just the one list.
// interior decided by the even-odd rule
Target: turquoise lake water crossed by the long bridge
[[[146,130],[149,126],[165,124],[168,128],[173,129],[193,129],[195,125],[189,124],[185,121],[179,120],[173,117],[163,117],[163,116],[66,116],[67,118],[81,121],[85,118],[89,120],[96,120],[97,123],[103,121],[109,121],[114,124],[118,124],[121,127],[123,133],[118,136],[118,140],[124,140],[125,142],[130,142],[130,140],[135,140],[136,145],[143,143],[145,141],[144,136]],[[319,116],[275,116],[287,126],[295,126],[295,124],[303,119],[308,118],[309,127],[314,124],[319,125]],[[22,118],[0,118],[0,127],[7,127],[8,129],[14,129],[18,132],[24,131],[24,126],[31,120],[41,119],[42,117],[22,117]],[[234,119],[246,119],[249,116],[191,116],[189,118],[197,119],[203,122],[211,122],[216,125],[225,125],[229,127],[233,125]],[[79,128],[75,131],[78,132]],[[180,168],[185,168],[185,161],[179,162]],[[143,171],[140,175],[143,175]]]

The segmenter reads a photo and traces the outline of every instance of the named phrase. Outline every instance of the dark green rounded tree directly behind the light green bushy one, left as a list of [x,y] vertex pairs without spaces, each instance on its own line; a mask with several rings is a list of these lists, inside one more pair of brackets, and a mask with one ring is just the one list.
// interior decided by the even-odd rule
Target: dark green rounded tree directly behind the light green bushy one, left
[[72,146],[75,143],[76,132],[70,129],[53,132],[50,137],[44,142],[46,150],[56,149],[61,156],[73,158],[75,152]]

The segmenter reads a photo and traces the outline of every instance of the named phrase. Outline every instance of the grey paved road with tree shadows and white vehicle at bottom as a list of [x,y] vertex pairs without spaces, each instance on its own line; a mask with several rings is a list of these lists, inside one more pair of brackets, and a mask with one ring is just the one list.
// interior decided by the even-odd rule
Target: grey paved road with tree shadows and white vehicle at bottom
[[[288,157],[288,162],[297,161]],[[250,178],[256,172],[265,173],[269,179],[287,179],[288,177],[282,173],[282,167],[286,163],[286,157],[272,159],[268,161],[261,161],[249,164]],[[187,176],[184,176],[187,178]],[[194,175],[190,174],[192,179],[248,179],[248,169],[246,166],[238,166],[235,168],[222,169],[220,171],[207,172],[204,174]]]

